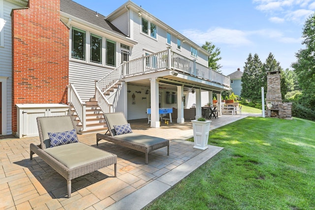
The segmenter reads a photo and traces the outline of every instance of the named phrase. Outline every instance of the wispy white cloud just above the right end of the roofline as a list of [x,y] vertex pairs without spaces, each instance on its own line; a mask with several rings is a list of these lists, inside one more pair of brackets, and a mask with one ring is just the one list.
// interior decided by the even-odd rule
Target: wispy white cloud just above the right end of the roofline
[[233,46],[250,45],[252,42],[248,39],[247,33],[242,30],[232,30],[215,28],[207,31],[184,30],[183,34],[197,44],[204,44],[205,41],[222,43]]

